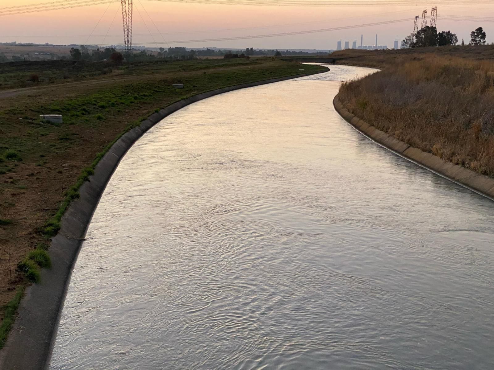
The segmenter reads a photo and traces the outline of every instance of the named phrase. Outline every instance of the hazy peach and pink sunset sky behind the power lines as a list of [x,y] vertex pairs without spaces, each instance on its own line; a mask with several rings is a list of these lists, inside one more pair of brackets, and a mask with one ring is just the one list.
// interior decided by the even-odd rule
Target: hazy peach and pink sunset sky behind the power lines
[[[52,0],[2,0],[1,7],[49,2]],[[485,0],[484,0],[485,1]],[[438,30],[451,30],[467,43],[472,30],[482,26],[487,40],[494,41],[494,23],[441,19],[441,15],[494,16],[494,1],[469,5],[438,5]],[[432,2],[419,6],[249,6],[195,4],[134,0],[133,45],[147,47],[186,46],[218,48],[335,49],[338,40],[357,40],[364,35],[364,45],[378,44],[392,48],[413,30],[413,17],[430,8]],[[266,37],[243,40],[170,43],[177,40],[240,37],[293,31],[362,25],[381,21],[409,19],[404,22],[374,25],[321,33]],[[493,18],[494,20],[494,18]],[[56,44],[123,43],[120,3],[0,16],[0,42],[37,42]],[[150,35],[152,34],[152,35]],[[161,34],[161,35],[160,35]]]

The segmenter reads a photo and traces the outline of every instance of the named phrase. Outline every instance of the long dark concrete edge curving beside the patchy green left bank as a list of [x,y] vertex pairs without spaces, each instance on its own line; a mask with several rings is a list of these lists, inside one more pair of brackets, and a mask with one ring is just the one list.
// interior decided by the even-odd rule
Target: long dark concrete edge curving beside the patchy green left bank
[[41,283],[26,289],[25,296],[19,305],[17,320],[10,331],[5,347],[1,350],[0,369],[34,370],[47,367],[70,276],[87,226],[120,160],[146,131],[169,114],[214,95],[328,71],[329,69],[272,78],[201,93],[151,114],[141,122],[139,127],[125,133],[99,161],[94,175],[90,176],[89,181],[81,186],[80,198],[73,201],[65,212],[61,229],[52,239],[49,249],[52,268],[42,269]]

